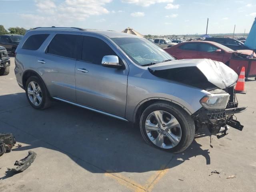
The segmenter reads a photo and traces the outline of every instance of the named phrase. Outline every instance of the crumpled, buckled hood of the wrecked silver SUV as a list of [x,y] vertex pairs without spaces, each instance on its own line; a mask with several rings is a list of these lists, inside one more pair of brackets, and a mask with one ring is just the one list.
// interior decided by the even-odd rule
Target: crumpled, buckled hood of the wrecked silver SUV
[[186,67],[198,68],[207,78],[208,82],[221,89],[234,84],[238,79],[238,75],[230,67],[226,66],[222,62],[213,61],[210,59],[173,60],[155,64],[153,66],[149,66],[148,68],[152,71],[158,71]]

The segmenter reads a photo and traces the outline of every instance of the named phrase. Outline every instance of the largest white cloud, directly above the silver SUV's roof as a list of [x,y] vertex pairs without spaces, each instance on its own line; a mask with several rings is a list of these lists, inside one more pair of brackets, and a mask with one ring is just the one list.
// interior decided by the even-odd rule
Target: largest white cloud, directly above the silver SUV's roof
[[28,26],[69,26],[74,21],[84,21],[92,15],[108,14],[104,8],[112,0],[34,0],[36,14],[20,14]]

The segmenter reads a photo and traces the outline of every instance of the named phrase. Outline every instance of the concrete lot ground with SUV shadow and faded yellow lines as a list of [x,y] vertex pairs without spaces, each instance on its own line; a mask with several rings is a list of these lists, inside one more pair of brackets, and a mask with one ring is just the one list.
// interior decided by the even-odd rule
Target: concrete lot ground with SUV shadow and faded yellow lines
[[[256,191],[256,82],[238,94],[242,132],[230,129],[217,139],[201,132],[181,154],[148,146],[132,124],[62,102],[35,110],[14,75],[0,76],[0,132],[12,132],[17,144],[0,157],[1,192],[168,192]],[[16,145],[17,145],[16,144]],[[38,155],[22,173],[7,167],[32,150]],[[217,170],[220,174],[212,174]],[[229,178],[228,176],[236,176]]]

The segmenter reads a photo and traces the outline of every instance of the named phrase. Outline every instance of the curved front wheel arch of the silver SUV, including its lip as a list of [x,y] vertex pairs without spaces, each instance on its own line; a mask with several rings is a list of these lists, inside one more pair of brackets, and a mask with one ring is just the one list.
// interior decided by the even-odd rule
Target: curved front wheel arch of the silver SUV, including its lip
[[152,97],[152,98],[147,98],[143,101],[141,101],[135,108],[134,110],[134,114],[133,114],[133,122],[138,122],[142,112],[151,104],[155,103],[155,102],[160,102],[160,101],[164,101],[164,102],[169,102],[172,104],[176,104],[177,106],[179,106],[180,108],[184,109],[189,115],[192,115],[192,112],[190,112],[190,110],[188,110],[188,108],[186,108],[185,106],[183,106],[182,104],[180,104],[179,102],[176,102],[174,100],[168,99],[168,98],[161,98],[161,97]]

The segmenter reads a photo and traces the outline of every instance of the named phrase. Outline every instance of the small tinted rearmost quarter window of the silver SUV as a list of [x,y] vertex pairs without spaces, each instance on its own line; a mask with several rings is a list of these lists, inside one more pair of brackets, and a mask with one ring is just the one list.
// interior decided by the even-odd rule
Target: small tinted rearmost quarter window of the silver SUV
[[22,49],[38,50],[49,34],[37,34],[30,36],[22,46]]

